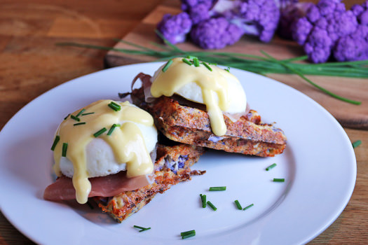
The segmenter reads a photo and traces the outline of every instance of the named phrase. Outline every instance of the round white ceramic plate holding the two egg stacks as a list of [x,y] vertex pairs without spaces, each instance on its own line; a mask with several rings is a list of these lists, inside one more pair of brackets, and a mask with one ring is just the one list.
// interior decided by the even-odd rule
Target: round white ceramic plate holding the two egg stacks
[[[275,158],[210,151],[196,169],[203,176],[179,183],[121,224],[98,209],[42,199],[53,182],[50,146],[60,121],[98,99],[130,91],[134,64],[76,78],[42,94],[20,110],[0,134],[0,207],[20,232],[39,244],[304,244],[341,214],[353,193],[356,161],[336,120],[297,90],[253,73],[231,69],[264,122],[276,122],[287,148]],[[273,162],[277,167],[265,171]],[[273,178],[285,178],[275,183]],[[227,186],[208,192],[210,186]],[[203,209],[206,194],[217,211]],[[236,209],[234,200],[246,211]],[[138,232],[133,225],[151,227]],[[182,241],[180,232],[196,230]]]

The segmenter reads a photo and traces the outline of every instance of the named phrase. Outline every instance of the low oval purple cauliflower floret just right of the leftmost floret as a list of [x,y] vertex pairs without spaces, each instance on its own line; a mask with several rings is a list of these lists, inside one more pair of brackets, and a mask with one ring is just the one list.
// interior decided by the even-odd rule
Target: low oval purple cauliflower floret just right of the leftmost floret
[[191,40],[200,48],[224,48],[239,41],[243,31],[226,18],[210,18],[200,22],[191,30]]

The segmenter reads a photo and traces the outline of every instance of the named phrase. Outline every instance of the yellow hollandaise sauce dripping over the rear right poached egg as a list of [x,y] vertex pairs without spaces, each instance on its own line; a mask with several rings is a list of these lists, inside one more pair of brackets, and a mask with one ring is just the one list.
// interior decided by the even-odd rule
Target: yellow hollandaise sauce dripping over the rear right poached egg
[[200,87],[200,101],[191,97],[183,97],[205,104],[212,132],[217,136],[222,136],[226,134],[222,112],[229,108],[228,79],[236,78],[229,71],[195,59],[189,61],[189,59],[179,57],[169,61],[166,67],[163,66],[162,70],[155,73],[151,94],[153,97],[182,95],[179,93],[182,87],[195,83]]

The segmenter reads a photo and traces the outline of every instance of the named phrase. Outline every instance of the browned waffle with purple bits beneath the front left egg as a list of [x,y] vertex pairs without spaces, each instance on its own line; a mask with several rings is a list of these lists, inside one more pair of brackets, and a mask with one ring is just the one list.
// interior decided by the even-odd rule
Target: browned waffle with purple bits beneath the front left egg
[[157,193],[164,193],[179,182],[189,181],[193,175],[205,174],[205,171],[191,171],[190,169],[203,153],[203,148],[198,146],[158,144],[154,164],[154,181],[151,185],[125,191],[114,197],[93,197],[93,200],[97,202],[102,211],[121,223],[125,218],[151,202]]

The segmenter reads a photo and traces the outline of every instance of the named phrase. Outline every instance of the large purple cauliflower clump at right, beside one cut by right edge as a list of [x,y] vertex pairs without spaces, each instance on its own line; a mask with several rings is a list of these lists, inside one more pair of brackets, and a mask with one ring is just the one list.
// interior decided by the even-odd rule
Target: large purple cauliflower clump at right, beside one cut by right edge
[[353,34],[357,18],[341,0],[320,0],[292,24],[292,37],[314,63],[327,62],[339,39]]

